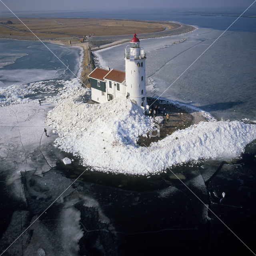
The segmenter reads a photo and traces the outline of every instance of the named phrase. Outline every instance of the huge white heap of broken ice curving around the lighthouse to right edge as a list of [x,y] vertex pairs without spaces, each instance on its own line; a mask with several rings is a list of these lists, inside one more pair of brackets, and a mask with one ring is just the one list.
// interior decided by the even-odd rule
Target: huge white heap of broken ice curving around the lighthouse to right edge
[[212,121],[141,147],[138,136],[154,129],[154,122],[126,98],[104,104],[66,99],[48,112],[46,121],[59,133],[56,146],[79,155],[84,165],[125,174],[148,175],[190,160],[236,158],[256,139],[255,125]]

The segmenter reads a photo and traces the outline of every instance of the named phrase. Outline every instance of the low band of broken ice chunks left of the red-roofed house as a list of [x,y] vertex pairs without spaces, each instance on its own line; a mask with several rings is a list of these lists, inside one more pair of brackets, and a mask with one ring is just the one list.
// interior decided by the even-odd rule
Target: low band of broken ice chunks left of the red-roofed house
[[[38,104],[38,98],[42,100],[42,95],[46,102],[58,102],[65,98],[79,98],[80,100],[90,99],[90,89],[81,85],[79,78],[72,80],[49,80],[33,82],[26,85],[12,85],[0,88],[0,106],[9,106],[20,103],[34,102]],[[52,94],[52,95],[51,95]],[[30,97],[37,98],[32,100]],[[83,98],[84,97],[84,98]]]

